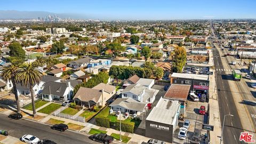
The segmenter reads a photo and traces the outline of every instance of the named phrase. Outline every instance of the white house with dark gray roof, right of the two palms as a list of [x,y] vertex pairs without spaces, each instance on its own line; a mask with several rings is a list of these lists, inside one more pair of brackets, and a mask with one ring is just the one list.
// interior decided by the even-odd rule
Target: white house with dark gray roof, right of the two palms
[[73,87],[70,82],[47,82],[43,85],[43,91],[40,93],[41,99],[45,101],[63,102],[71,98],[73,95]]

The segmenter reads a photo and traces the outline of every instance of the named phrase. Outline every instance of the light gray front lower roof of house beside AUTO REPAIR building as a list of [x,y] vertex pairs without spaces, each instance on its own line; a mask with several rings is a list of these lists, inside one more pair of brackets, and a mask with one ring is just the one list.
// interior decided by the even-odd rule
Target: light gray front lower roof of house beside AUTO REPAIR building
[[132,98],[118,98],[109,106],[121,106],[130,110],[143,111],[146,105],[146,102],[138,102]]

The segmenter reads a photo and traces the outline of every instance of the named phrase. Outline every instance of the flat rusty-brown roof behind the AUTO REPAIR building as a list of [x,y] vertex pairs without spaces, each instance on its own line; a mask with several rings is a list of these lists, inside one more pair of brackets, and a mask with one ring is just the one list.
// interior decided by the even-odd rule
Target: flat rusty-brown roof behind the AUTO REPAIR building
[[166,99],[186,101],[190,90],[189,84],[171,84],[164,95]]

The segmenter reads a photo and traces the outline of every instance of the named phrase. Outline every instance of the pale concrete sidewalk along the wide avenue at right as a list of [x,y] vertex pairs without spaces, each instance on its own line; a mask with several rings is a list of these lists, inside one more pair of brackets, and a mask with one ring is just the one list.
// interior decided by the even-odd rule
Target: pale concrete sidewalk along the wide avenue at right
[[221,122],[220,122],[220,111],[218,103],[217,90],[215,87],[215,74],[213,71],[210,76],[210,87],[209,87],[209,103],[210,103],[210,125],[214,126],[214,130],[210,131],[210,143],[220,143],[221,135]]

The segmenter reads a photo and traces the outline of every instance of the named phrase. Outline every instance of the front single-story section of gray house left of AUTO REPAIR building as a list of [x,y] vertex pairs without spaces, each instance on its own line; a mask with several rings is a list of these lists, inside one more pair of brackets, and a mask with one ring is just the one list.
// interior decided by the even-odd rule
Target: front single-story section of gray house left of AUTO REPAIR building
[[138,102],[132,98],[118,98],[110,105],[111,110],[121,113],[129,113],[130,115],[140,115],[147,109],[147,102]]

